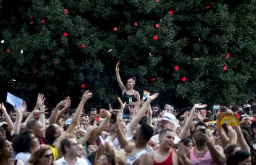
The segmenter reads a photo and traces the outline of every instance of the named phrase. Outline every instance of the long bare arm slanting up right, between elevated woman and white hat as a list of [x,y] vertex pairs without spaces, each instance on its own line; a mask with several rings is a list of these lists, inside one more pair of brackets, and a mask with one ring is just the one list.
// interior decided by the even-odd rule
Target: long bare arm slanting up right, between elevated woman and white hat
[[137,124],[139,124],[140,120],[144,116],[144,114],[148,110],[148,106],[150,103],[158,96],[158,93],[154,93],[153,95],[148,95],[147,101],[145,104],[143,104],[142,108],[140,108],[140,111],[137,112],[137,114],[132,118],[132,121],[130,121],[130,131],[133,132]]

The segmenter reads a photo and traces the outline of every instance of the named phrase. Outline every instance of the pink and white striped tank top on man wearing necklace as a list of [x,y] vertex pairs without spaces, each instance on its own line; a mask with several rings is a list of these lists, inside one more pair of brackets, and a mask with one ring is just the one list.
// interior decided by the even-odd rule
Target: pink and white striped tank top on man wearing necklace
[[190,149],[189,157],[192,165],[217,165],[213,158],[211,158],[209,150],[202,157],[197,157],[195,156],[195,148],[192,148]]

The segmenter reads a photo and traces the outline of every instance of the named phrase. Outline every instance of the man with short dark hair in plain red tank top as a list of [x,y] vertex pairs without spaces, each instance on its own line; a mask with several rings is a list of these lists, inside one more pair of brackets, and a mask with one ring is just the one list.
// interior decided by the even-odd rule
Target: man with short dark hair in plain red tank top
[[154,165],[190,164],[186,156],[186,146],[179,143],[179,150],[175,151],[174,132],[171,129],[163,129],[159,135],[160,146],[154,152]]

